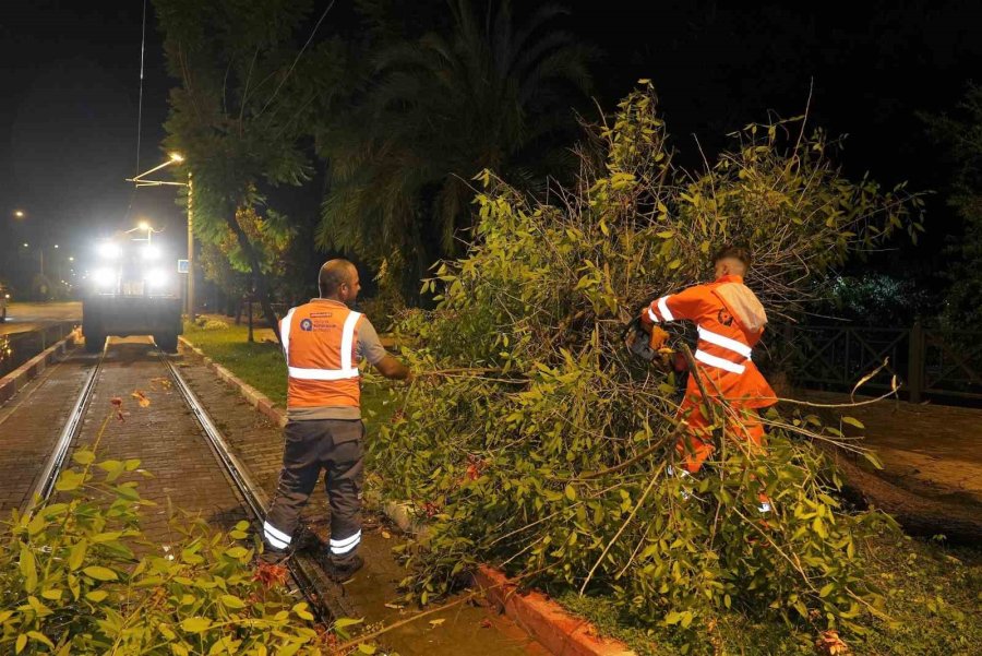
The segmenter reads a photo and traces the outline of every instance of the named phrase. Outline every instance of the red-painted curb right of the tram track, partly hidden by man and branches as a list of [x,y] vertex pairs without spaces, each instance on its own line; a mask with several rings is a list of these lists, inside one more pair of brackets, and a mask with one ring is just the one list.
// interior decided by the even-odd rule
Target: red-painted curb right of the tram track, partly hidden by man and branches
[[[274,424],[286,426],[286,413],[273,407],[265,395],[212,360],[184,337],[180,337],[180,341],[201,356],[221,380],[237,386],[255,409],[270,417]],[[381,504],[381,510],[400,530],[426,541],[427,526],[414,516],[409,504],[386,501]],[[624,643],[599,637],[597,629],[588,620],[570,613],[542,593],[538,591],[519,593],[518,585],[511,582],[501,570],[481,565],[472,580],[474,585],[480,588],[489,600],[555,656],[634,655]]]

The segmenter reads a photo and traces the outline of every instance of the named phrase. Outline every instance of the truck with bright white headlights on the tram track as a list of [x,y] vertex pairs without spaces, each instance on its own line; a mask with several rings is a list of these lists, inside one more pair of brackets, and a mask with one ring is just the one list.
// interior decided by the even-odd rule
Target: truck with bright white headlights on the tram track
[[123,232],[97,244],[82,298],[88,353],[103,350],[108,336],[130,335],[149,335],[160,350],[177,350],[183,332],[177,260],[152,243],[152,235],[146,229],[146,239],[131,239]]

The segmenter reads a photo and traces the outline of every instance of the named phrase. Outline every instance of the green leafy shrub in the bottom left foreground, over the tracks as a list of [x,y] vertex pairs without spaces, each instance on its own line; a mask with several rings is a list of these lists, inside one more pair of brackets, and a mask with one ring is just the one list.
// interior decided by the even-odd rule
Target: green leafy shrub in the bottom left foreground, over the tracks
[[320,654],[306,603],[284,571],[251,566],[248,523],[228,534],[175,518],[164,547],[140,528],[135,460],[95,462],[58,480],[58,502],[14,513],[0,547],[4,654]]

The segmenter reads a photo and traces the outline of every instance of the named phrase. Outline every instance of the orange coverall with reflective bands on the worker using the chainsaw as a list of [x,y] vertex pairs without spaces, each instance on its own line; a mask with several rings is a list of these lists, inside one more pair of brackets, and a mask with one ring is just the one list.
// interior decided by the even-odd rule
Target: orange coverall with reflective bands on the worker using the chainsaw
[[[727,433],[750,440],[757,446],[764,441],[757,408],[774,405],[777,398],[751,360],[751,350],[764,334],[767,315],[741,276],[724,275],[714,283],[663,296],[642,312],[642,321],[648,326],[681,320],[695,322],[699,333],[694,354],[696,370],[690,371],[685,398],[678,415],[688,426],[686,438],[692,449],[686,446],[686,438],[675,444],[683,456],[682,467],[694,474],[714,451],[710,421],[700,408],[703,396],[696,375],[707,395],[721,395],[740,415],[728,417]],[[716,405],[714,413],[718,416],[722,412],[723,408]]]

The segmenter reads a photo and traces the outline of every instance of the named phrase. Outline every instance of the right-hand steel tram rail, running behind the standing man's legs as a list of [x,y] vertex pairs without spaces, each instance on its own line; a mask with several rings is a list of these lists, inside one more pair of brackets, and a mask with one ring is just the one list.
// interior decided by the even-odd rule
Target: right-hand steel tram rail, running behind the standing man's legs
[[[167,367],[171,379],[173,379],[178,391],[184,397],[184,402],[204,429],[205,438],[216,458],[246,499],[246,503],[255,521],[262,524],[265,520],[265,509],[268,506],[265,491],[252,479],[249,469],[229,449],[221,431],[215,426],[204,405],[191,390],[184,378],[178,372],[173,362],[159,349],[158,354]],[[303,537],[298,536],[296,539],[302,541]],[[307,553],[294,552],[286,560],[286,565],[297,587],[308,599],[321,622],[330,624],[332,620],[343,617],[361,617],[344,587],[324,574],[323,569],[314,558]]]

